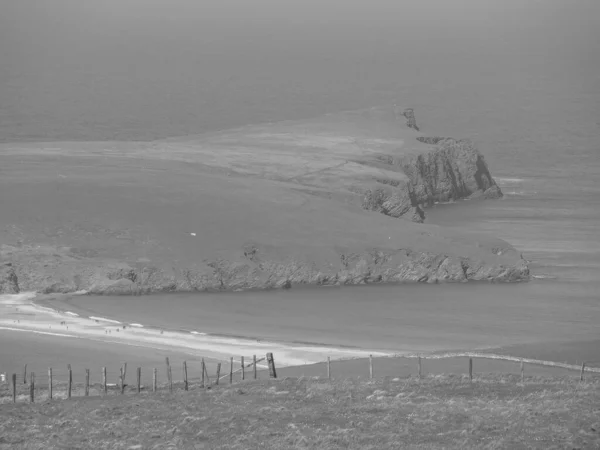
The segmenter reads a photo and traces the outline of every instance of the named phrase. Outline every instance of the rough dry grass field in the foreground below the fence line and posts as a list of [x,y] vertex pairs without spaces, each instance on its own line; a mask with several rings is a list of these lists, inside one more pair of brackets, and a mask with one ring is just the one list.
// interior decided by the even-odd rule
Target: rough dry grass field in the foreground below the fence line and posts
[[0,448],[600,448],[600,383],[290,378],[0,407]]

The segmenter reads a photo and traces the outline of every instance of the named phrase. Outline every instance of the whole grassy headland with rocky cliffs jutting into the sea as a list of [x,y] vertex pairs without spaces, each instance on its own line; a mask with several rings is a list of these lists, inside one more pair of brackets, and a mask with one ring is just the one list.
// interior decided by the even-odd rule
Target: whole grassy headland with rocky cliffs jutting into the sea
[[529,279],[510,244],[426,223],[502,192],[472,142],[410,109],[0,155],[0,293]]

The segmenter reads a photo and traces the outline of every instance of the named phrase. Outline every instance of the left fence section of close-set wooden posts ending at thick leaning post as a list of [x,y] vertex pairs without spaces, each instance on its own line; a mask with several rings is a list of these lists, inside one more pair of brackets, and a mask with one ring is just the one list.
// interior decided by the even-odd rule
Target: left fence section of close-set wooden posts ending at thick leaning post
[[[150,371],[142,371],[141,367],[137,367],[134,375],[129,377],[132,380],[132,384],[130,384],[128,382],[129,372],[127,370],[127,363],[123,363],[118,371],[114,369],[108,371],[106,367],[102,367],[96,374],[92,374],[90,369],[85,369],[83,383],[74,382],[74,373],[70,364],[67,365],[66,372],[60,373],[59,377],[57,377],[59,374],[52,367],[49,367],[47,373],[42,375],[40,373],[28,372],[27,365],[25,365],[22,373],[13,373],[10,379],[6,379],[6,374],[2,374],[0,377],[0,386],[2,384],[8,386],[10,392],[8,396],[4,393],[1,397],[5,399],[6,397],[9,399],[12,398],[13,403],[24,397],[33,403],[36,398],[40,397],[40,394],[42,394],[42,399],[52,400],[58,398],[70,399],[74,396],[109,395],[109,393],[124,394],[126,390],[128,392],[133,390],[137,393],[141,393],[142,391],[158,392],[159,390],[173,392],[176,387],[180,387],[187,391],[192,387],[192,382],[194,382],[194,387],[199,385],[202,388],[208,388],[223,382],[226,383],[227,381],[229,384],[233,384],[236,377],[239,377],[240,381],[246,379],[256,380],[259,375],[258,364],[265,360],[268,365],[269,377],[277,378],[273,354],[267,353],[262,358],[257,358],[256,355],[253,355],[251,358],[245,359],[242,356],[237,368],[235,367],[237,364],[232,357],[227,368],[229,370],[222,367],[222,363],[217,363],[216,372],[213,375],[208,373],[208,365],[205,363],[204,358],[201,360],[199,368],[191,367],[188,361],[183,361],[178,368],[181,374],[181,381],[177,382],[173,377],[174,367],[167,357],[165,358],[165,365],[161,369],[165,382],[161,384],[159,384],[159,370],[156,367]],[[193,374],[199,375],[192,378],[191,375]],[[99,381],[93,382],[93,378]],[[115,382],[111,383],[111,380]],[[25,392],[23,392],[24,390]],[[45,395],[43,395],[44,393]],[[1,397],[0,400],[2,400]]]

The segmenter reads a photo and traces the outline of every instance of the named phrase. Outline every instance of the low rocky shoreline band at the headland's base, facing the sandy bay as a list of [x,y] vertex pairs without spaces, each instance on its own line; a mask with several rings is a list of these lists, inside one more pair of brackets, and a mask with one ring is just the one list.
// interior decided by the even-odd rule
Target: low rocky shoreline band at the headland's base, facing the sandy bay
[[[59,250],[60,251],[60,250]],[[294,285],[363,285],[378,283],[520,282],[529,280],[525,260],[515,265],[410,249],[342,255],[341,268],[319,268],[301,261],[260,260],[247,262],[208,261],[211,271],[186,268],[166,272],[149,266],[136,269],[126,263],[68,261],[67,254],[53,260],[61,263],[48,270],[43,260],[26,264],[5,263],[0,270],[0,293],[21,291],[72,293],[85,290],[97,295],[139,295],[153,292],[227,291],[292,288]]]

